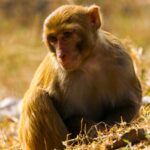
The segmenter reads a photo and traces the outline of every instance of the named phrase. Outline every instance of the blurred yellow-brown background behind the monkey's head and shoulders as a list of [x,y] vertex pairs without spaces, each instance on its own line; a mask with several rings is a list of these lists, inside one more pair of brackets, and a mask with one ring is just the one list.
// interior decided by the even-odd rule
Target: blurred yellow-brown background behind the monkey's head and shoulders
[[102,28],[142,48],[143,64],[150,65],[150,0],[0,0],[0,99],[23,96],[48,52],[43,21],[68,3],[100,5]]

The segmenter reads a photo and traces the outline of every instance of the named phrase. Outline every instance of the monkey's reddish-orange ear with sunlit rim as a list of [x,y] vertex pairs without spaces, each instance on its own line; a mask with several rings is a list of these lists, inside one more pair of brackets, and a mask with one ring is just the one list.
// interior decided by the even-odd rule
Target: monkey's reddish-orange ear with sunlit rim
[[101,20],[100,20],[100,7],[97,5],[92,5],[88,8],[88,14],[90,17],[90,21],[92,26],[95,29],[100,28],[101,26]]

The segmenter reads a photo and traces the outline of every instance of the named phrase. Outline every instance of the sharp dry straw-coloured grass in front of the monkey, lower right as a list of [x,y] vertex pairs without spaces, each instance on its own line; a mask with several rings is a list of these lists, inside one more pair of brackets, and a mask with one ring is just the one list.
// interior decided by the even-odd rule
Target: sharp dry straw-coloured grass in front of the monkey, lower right
[[126,124],[125,122],[122,122],[119,125],[113,126],[109,131],[105,130],[104,132],[98,132],[98,137],[94,138],[92,142],[89,142],[88,145],[84,144],[84,140],[86,138],[85,135],[79,135],[76,139],[72,139],[72,143],[78,143],[75,146],[68,145],[67,143],[70,142],[70,140],[65,141],[64,144],[66,145],[67,150],[105,150],[107,149],[108,145],[112,146],[113,143],[120,140],[122,135],[126,132],[129,132],[130,130],[138,130],[138,129],[144,129],[146,131],[146,140],[141,141],[140,143],[136,145],[131,145],[130,141],[127,139],[123,139],[126,142],[126,146],[123,149],[146,149],[150,147],[150,105],[148,106],[142,106],[140,117],[138,117],[132,124]]

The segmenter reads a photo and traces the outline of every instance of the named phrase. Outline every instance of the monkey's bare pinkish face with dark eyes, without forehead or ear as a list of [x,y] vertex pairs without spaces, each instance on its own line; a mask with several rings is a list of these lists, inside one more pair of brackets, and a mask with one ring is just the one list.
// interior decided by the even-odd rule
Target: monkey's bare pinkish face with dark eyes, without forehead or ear
[[47,35],[51,52],[56,56],[58,63],[65,70],[74,70],[81,64],[81,39],[76,29],[63,29]]

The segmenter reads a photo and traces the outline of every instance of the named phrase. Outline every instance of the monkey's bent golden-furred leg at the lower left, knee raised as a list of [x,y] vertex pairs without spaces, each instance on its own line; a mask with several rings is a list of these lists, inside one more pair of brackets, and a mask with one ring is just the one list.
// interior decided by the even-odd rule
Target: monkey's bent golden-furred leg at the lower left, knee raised
[[24,150],[63,149],[67,129],[49,95],[36,89],[24,99],[20,121],[20,139]]

